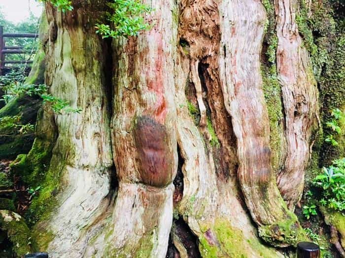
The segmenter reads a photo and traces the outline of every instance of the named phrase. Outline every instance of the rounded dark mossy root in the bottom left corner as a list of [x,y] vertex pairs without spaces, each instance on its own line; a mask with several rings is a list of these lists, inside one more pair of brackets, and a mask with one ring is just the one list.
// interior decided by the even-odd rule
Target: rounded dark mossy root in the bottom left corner
[[13,252],[17,256],[35,251],[30,230],[17,213],[0,210],[0,229],[7,231],[7,237],[13,243]]

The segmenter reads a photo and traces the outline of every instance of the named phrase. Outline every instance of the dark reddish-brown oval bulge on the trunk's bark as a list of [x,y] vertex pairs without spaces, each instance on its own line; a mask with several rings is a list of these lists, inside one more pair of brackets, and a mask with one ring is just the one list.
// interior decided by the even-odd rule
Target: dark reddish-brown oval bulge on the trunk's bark
[[173,152],[169,148],[166,127],[151,117],[140,116],[134,129],[134,139],[141,181],[156,187],[171,183]]

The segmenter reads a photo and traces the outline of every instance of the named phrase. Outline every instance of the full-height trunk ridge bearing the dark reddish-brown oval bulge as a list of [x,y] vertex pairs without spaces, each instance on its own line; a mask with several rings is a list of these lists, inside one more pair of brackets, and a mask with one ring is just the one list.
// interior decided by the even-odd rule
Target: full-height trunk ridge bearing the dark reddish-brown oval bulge
[[[103,257],[165,257],[177,172],[172,0],[144,1],[153,27],[113,45],[111,122],[119,180]],[[99,255],[100,253],[98,253]]]

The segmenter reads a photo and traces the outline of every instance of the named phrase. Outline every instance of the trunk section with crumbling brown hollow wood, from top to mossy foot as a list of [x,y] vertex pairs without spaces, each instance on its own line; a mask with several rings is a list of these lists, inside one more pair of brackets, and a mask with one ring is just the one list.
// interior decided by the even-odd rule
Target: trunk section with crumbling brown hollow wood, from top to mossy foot
[[[218,12],[216,1],[184,0],[180,4],[175,85],[179,107],[177,139],[184,159],[184,185],[177,209],[198,237],[202,256],[236,257],[242,254],[257,257],[260,256],[258,249],[263,248],[266,257],[279,257],[260,244],[256,248],[246,241],[257,243],[254,229],[239,201],[241,194],[233,175],[237,163],[236,144],[219,74],[221,35]],[[196,65],[198,77],[195,76]],[[194,97],[191,96],[193,92]],[[191,106],[193,104],[199,107]],[[193,116],[194,119],[203,116],[201,110],[204,107],[207,126],[205,122],[194,123],[192,119]],[[216,144],[212,144],[214,138]],[[218,180],[217,175],[222,180]],[[274,178],[272,181],[275,183]],[[276,193],[279,195],[277,188]],[[245,246],[245,250],[238,246]]]

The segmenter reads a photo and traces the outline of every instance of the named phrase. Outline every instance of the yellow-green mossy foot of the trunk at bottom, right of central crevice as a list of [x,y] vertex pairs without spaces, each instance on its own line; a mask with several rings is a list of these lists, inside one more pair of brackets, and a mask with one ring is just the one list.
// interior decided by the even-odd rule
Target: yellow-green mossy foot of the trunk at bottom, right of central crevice
[[202,227],[199,238],[200,254],[204,258],[279,258],[273,248],[260,243],[254,237],[247,239],[240,229],[232,227],[226,219],[218,219],[210,229]]

